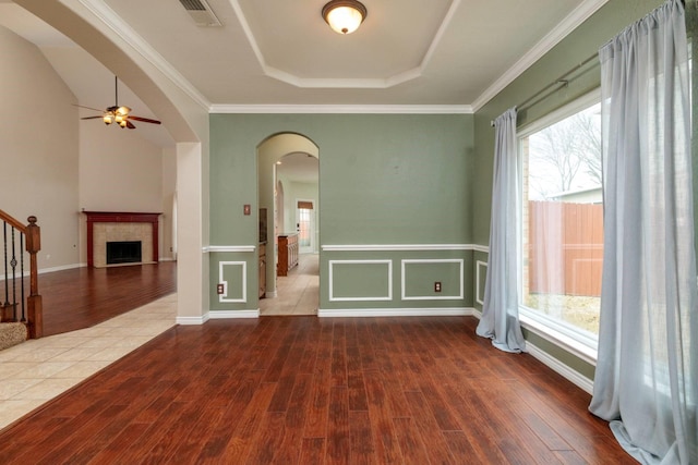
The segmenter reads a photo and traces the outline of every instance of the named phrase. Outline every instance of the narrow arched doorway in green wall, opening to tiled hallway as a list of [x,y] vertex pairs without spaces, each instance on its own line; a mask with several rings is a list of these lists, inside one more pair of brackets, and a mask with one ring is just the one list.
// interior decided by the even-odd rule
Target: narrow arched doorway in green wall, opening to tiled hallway
[[[317,146],[301,134],[275,134],[257,146],[258,212],[266,215],[260,221],[261,228],[266,228],[260,236],[266,234],[267,238],[266,298],[260,301],[263,316],[317,313],[318,159]],[[302,222],[301,217],[312,222]],[[303,231],[299,231],[301,225]],[[301,235],[303,254],[299,254]],[[311,235],[313,248],[308,246]]]

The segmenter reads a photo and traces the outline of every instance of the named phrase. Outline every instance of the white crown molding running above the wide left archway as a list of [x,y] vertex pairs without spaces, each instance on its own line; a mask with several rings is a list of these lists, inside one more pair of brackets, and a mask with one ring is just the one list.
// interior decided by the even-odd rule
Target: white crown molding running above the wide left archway
[[104,1],[77,0],[94,14],[116,36],[127,42],[141,57],[153,64],[177,87],[186,94],[202,108],[208,110],[210,102],[194,87],[179,71],[177,71],[161,54],[159,54],[143,37],[141,37],[125,21],[123,21]]

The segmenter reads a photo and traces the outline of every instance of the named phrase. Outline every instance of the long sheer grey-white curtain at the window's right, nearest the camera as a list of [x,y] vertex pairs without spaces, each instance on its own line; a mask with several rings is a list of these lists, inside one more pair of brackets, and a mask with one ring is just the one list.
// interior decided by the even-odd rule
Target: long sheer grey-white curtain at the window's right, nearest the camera
[[698,464],[698,309],[684,8],[599,51],[604,264],[589,409],[646,464]]

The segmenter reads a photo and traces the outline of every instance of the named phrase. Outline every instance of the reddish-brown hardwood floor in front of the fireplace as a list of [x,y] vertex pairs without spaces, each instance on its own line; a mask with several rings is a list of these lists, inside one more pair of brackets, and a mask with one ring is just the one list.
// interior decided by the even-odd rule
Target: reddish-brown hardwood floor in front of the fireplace
[[177,264],[83,267],[39,274],[38,281],[44,335],[51,335],[92,327],[176,292]]

